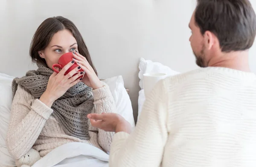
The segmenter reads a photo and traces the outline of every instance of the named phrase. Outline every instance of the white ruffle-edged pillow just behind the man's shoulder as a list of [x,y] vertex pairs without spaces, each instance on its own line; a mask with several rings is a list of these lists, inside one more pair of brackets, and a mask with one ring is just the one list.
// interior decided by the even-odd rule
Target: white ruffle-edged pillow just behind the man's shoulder
[[145,60],[144,58],[140,58],[140,64],[139,64],[139,78],[140,78],[140,92],[139,92],[139,98],[138,98],[138,117],[140,117],[140,113],[143,107],[143,103],[145,101],[145,94],[143,90],[143,74],[145,73],[166,73],[169,76],[180,74],[180,72],[172,70],[168,66],[164,66],[163,64],[159,62],[153,62],[151,60]]

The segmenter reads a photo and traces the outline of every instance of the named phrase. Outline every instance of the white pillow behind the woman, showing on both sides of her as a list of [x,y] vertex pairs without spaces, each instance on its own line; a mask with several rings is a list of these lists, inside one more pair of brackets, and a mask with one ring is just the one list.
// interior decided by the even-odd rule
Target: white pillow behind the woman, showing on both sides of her
[[[6,148],[6,134],[11,117],[12,80],[14,77],[0,73],[0,167],[15,167],[15,159]],[[116,112],[135,127],[131,100],[124,87],[122,76],[104,80],[110,87]]]

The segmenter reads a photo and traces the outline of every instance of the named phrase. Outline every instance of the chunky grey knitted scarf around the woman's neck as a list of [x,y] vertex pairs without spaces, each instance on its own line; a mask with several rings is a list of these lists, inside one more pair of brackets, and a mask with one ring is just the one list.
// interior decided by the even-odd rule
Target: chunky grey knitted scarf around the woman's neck
[[[35,98],[40,98],[45,92],[52,69],[42,64],[37,64],[38,69],[28,71],[26,76],[15,78],[12,81],[13,97],[18,84],[27,89]],[[90,139],[88,132],[88,118],[93,109],[92,89],[79,82],[67,90],[52,104],[52,115],[57,119],[67,135],[83,140]]]

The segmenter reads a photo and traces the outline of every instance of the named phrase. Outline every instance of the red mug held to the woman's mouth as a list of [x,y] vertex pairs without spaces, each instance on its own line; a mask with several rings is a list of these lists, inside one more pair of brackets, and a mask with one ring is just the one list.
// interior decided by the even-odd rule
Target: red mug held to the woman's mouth
[[[63,69],[63,67],[66,66],[72,60],[73,60],[73,53],[72,52],[67,52],[59,58],[58,64],[53,64],[52,65],[52,70],[59,73],[59,71],[57,69],[55,69],[55,67],[58,67],[59,69]],[[67,71],[65,72],[64,75],[67,75],[70,71],[72,71],[76,67],[78,67],[78,65],[76,63],[74,63],[73,66],[71,66],[69,69],[67,69]],[[76,75],[80,72],[84,72],[84,70],[79,69],[74,75]],[[79,78],[84,78],[84,74],[81,75]]]

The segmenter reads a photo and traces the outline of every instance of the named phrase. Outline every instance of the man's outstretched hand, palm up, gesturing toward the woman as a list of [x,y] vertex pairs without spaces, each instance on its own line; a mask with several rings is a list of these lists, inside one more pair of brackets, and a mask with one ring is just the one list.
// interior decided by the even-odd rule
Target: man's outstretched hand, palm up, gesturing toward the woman
[[127,132],[131,133],[131,124],[121,115],[116,113],[88,114],[87,118],[93,127],[107,132]]

